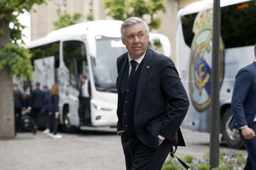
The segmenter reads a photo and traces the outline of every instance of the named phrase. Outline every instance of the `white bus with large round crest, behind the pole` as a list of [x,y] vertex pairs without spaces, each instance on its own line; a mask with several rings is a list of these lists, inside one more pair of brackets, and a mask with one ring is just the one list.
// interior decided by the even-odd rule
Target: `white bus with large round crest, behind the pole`
[[[235,75],[255,60],[256,4],[248,0],[221,0],[220,133],[229,147],[242,147],[238,130],[230,130],[230,102]],[[210,130],[210,77],[213,40],[213,1],[198,1],[178,12],[177,67],[191,105],[183,125]],[[246,83],[246,82],[245,82]]]

